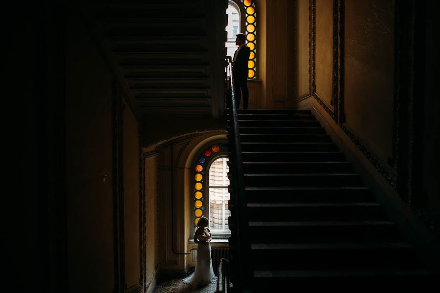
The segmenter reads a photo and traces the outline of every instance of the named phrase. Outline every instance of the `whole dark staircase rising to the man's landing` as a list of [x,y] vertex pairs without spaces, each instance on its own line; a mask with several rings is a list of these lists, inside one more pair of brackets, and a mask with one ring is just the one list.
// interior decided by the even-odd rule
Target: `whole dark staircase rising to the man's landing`
[[434,283],[310,110],[238,116],[254,292],[416,292]]

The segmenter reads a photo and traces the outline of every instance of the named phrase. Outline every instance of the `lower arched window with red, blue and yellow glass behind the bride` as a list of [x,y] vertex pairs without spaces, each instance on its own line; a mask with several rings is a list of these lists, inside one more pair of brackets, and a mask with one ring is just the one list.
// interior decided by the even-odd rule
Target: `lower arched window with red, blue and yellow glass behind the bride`
[[215,233],[230,233],[228,227],[227,141],[211,143],[200,149],[194,162],[192,217],[194,228],[200,217],[209,219]]

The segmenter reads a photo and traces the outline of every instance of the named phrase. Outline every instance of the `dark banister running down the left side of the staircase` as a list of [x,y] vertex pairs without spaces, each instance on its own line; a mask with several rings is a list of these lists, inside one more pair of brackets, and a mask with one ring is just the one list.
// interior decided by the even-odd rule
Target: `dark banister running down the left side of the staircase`
[[234,292],[250,291],[253,278],[252,260],[250,257],[249,225],[247,218],[246,194],[244,191],[242,147],[240,142],[240,130],[238,124],[238,112],[234,93],[234,76],[230,58],[226,59],[226,70],[229,73],[226,92],[229,93],[228,105],[228,140],[229,140],[229,173],[230,181],[229,209],[229,250],[231,262],[231,281],[234,284]]

